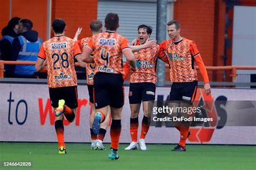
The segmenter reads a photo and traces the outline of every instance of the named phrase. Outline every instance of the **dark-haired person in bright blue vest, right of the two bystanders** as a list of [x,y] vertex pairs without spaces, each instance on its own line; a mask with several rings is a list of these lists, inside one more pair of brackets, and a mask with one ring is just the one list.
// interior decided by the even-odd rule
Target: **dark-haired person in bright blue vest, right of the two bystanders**
[[[22,19],[19,22],[20,36],[12,42],[14,60],[17,61],[37,61],[37,54],[42,45],[42,39],[38,38],[38,33],[31,30],[33,23],[29,19]],[[35,65],[16,65],[15,77],[35,78]]]

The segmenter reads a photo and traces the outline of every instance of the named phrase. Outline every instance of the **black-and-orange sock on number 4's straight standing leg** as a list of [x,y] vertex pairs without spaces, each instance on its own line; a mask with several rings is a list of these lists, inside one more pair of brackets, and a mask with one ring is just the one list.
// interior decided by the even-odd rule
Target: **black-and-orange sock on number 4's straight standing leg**
[[119,138],[121,134],[121,120],[112,120],[110,128],[111,145],[110,147],[114,150],[118,150]]

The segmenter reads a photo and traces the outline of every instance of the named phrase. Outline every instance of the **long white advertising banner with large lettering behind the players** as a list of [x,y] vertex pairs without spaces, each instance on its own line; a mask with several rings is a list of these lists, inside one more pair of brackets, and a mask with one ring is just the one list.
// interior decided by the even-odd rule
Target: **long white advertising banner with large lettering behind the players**
[[[57,141],[54,128],[55,115],[51,107],[49,90],[46,84],[0,84],[0,141]],[[170,93],[170,87],[158,87],[156,100],[166,100]],[[212,94],[206,96],[203,89],[198,89],[196,100],[198,101],[256,101],[256,90],[253,89],[212,89]],[[125,105],[122,112],[122,133],[120,143],[130,143],[130,106],[129,87],[125,87]],[[64,121],[66,142],[90,142],[89,115],[91,107],[86,86],[78,86],[78,110],[75,121],[68,123]],[[255,102],[254,102],[255,103]],[[230,106],[230,105],[229,105]],[[221,114],[219,110],[224,110]],[[233,110],[239,110],[233,108]],[[255,110],[254,107],[243,108]],[[204,126],[191,126],[191,136],[187,143],[192,144],[242,144],[256,145],[255,113],[251,124],[243,126],[227,125],[232,124],[234,117],[232,108],[227,105],[216,107],[210,104],[206,107],[206,116],[213,118]],[[253,111],[254,111],[253,110]],[[143,117],[141,108],[139,115],[139,131]],[[240,116],[242,119],[242,114]],[[224,121],[224,123],[223,123]],[[246,119],[245,119],[246,121]],[[218,125],[222,122],[221,125]],[[250,121],[249,121],[250,122]],[[252,123],[254,122],[254,123]],[[178,143],[179,133],[175,128],[166,127],[165,123],[150,126],[146,136],[146,143]],[[104,142],[110,142],[109,130],[107,130]]]

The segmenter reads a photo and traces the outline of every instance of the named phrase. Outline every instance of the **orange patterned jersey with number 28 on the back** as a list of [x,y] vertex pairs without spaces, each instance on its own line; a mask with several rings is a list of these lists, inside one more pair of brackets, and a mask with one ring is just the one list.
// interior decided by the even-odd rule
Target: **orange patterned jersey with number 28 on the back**
[[77,86],[75,56],[81,54],[77,42],[66,36],[45,41],[38,58],[46,60],[50,88]]

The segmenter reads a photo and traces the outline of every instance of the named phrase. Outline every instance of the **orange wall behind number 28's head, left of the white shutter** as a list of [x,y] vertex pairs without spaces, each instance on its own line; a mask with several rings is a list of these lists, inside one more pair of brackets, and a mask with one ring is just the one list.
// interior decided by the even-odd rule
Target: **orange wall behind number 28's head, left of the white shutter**
[[73,38],[78,27],[83,27],[79,39],[89,37],[90,22],[97,19],[97,6],[97,0],[52,0],[52,20],[63,18],[66,21],[66,36],[70,38]]

